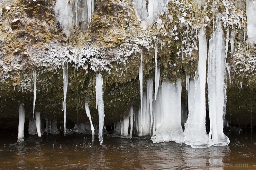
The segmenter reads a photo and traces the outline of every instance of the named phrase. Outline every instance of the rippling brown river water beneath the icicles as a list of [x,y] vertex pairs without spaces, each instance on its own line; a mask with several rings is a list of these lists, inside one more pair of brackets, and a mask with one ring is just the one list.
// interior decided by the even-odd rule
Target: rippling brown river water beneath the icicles
[[102,146],[98,137],[92,144],[91,136],[84,134],[44,134],[41,138],[25,134],[25,141],[16,143],[16,130],[1,130],[0,169],[256,169],[255,133],[225,133],[229,146],[196,149],[106,134]]

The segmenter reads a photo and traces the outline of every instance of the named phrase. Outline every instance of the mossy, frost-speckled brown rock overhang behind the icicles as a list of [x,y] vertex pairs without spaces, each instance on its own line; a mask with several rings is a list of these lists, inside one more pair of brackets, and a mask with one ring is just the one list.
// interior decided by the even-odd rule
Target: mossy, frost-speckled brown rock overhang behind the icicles
[[[58,119],[63,126],[65,63],[67,120],[89,121],[84,108],[88,96],[92,122],[98,124],[97,73],[103,77],[104,124],[124,118],[131,106],[137,113],[141,51],[144,91],[146,79],[154,79],[155,66],[159,66],[160,83],[182,80],[181,100],[186,102],[186,74],[192,78],[197,75],[199,30],[205,28],[208,49],[217,18],[223,29],[226,67],[228,71],[230,68],[231,77],[231,81],[229,76],[226,78],[226,119],[241,125],[251,123],[250,113],[255,113],[256,107],[256,40],[253,24],[246,22],[247,16],[250,22],[255,21],[246,14],[245,1],[81,1],[0,3],[1,127],[18,127],[18,123],[9,120],[18,122],[20,103],[24,103],[26,121],[33,117],[34,70],[35,111],[40,112],[42,120]],[[246,3],[252,4],[250,11],[256,11],[255,1]],[[239,109],[234,109],[238,106]],[[67,128],[73,128],[68,122]],[[252,122],[256,123],[255,117]]]

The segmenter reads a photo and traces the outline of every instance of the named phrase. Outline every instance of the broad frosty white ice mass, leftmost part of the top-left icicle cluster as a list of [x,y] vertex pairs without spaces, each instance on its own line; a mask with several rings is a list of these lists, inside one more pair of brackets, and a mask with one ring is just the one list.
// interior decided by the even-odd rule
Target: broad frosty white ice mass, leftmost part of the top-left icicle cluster
[[60,22],[63,33],[67,38],[70,38],[73,30],[73,14],[70,4],[68,4],[66,0],[57,0],[54,7],[54,14],[56,19]]

